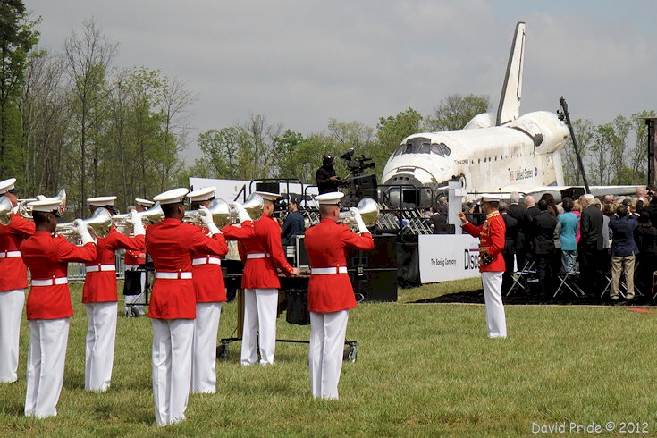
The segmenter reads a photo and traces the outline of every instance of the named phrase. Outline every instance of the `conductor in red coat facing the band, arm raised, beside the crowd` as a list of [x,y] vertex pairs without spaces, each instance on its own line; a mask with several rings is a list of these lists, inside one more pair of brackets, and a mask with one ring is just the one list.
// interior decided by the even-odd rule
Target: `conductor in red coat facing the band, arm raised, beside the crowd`
[[504,316],[504,306],[501,302],[501,281],[504,274],[504,233],[506,226],[498,211],[499,198],[482,198],[486,220],[483,225],[476,226],[467,221],[466,215],[459,212],[463,231],[479,238],[479,271],[484,285],[484,300],[486,304],[486,325],[489,338],[506,338],[507,323]]

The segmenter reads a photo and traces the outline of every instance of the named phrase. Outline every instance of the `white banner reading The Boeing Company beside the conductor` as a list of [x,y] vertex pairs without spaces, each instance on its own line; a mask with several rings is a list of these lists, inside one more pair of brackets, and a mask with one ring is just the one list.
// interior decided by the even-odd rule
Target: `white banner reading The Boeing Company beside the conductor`
[[479,276],[479,240],[469,234],[418,236],[420,282],[447,282]]

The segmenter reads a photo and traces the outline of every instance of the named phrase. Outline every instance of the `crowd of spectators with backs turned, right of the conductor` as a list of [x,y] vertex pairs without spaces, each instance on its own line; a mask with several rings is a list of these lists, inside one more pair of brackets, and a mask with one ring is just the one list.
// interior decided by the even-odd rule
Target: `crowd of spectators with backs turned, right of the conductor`
[[505,251],[514,252],[515,264],[508,254],[503,288],[509,290],[515,272],[535,271],[537,281],[530,291],[549,299],[559,274],[570,274],[591,299],[652,301],[657,271],[654,193],[638,188],[634,197],[587,194],[559,204],[550,194],[538,202],[527,196],[522,203],[512,194],[510,205],[500,208],[517,223],[507,229]]

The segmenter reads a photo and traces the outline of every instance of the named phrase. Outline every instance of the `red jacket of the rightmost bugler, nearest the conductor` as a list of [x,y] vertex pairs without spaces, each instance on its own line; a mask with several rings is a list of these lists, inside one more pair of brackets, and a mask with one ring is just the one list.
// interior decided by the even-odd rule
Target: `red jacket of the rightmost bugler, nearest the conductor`
[[[358,235],[346,225],[322,219],[306,231],[306,250],[311,268],[347,266],[345,248],[371,251],[375,247],[372,235]],[[339,312],[356,307],[349,274],[310,275],[308,310],[318,313]]]

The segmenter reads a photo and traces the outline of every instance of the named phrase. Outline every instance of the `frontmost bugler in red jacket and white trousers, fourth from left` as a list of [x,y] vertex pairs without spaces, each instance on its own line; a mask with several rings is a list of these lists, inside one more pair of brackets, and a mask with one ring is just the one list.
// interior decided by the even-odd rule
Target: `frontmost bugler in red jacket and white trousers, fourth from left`
[[199,210],[208,235],[198,226],[182,223],[183,200],[189,190],[173,189],[153,198],[164,220],[150,225],[146,248],[153,258],[156,281],[148,316],[153,322],[153,395],[157,425],[185,419],[190,395],[191,352],[196,319],[196,292],[192,281],[195,253],[221,257],[226,241],[207,210]]

